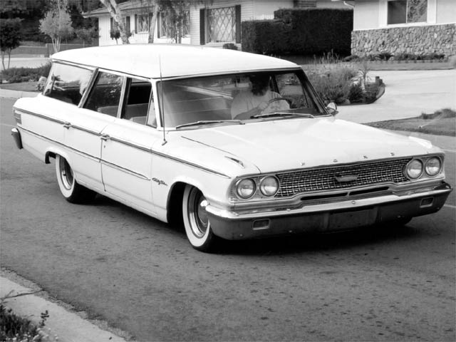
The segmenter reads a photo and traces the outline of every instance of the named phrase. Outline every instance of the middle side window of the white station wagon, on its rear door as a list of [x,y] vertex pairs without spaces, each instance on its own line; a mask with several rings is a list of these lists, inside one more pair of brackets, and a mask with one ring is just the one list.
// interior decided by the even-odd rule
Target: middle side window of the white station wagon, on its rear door
[[98,73],[84,108],[117,116],[122,86],[123,76],[105,72]]

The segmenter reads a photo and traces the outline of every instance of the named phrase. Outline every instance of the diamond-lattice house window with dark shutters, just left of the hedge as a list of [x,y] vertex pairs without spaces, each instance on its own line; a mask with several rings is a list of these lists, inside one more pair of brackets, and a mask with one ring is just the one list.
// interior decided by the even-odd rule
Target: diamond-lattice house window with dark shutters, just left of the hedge
[[241,42],[241,5],[199,12],[200,43]]

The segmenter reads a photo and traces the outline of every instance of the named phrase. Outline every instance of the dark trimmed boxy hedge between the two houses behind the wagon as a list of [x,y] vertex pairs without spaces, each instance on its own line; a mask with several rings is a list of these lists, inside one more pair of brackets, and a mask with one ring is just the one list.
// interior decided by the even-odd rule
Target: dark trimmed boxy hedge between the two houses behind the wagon
[[244,21],[242,50],[278,55],[351,52],[350,9],[279,9],[274,20]]

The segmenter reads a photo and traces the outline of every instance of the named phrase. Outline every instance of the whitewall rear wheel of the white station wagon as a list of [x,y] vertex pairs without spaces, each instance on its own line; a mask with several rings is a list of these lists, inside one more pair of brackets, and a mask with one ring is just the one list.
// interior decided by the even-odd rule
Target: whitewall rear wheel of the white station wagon
[[84,203],[95,197],[95,192],[76,182],[73,169],[61,155],[56,155],[56,176],[60,192],[68,202]]

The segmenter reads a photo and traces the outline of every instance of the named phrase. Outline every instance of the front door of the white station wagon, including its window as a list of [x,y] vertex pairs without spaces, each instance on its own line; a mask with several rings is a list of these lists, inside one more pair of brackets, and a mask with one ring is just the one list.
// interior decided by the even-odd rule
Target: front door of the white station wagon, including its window
[[155,118],[152,84],[140,78],[127,78],[124,94],[120,118],[102,133],[103,183],[113,197],[153,213],[151,147],[160,135],[146,125],[147,116]]

